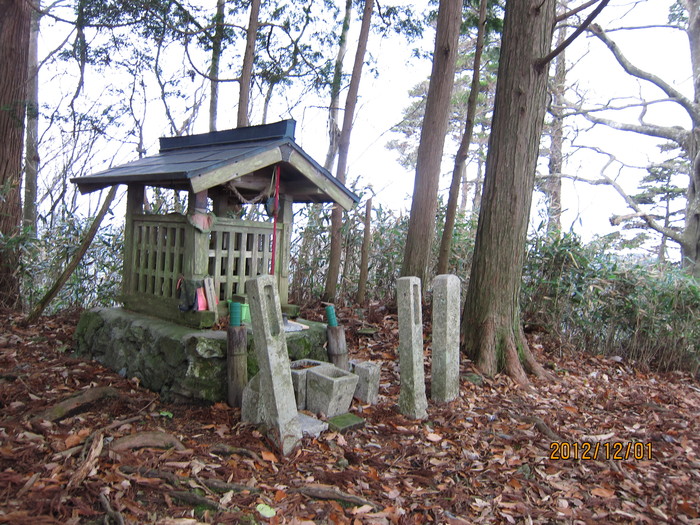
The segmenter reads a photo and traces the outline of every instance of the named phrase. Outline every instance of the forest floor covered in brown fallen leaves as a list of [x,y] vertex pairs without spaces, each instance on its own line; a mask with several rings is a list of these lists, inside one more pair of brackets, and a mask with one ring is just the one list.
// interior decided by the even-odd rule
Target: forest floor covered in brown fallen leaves
[[[685,373],[533,336],[555,381],[478,385],[465,362],[459,399],[412,421],[396,406],[396,317],[351,318],[352,356],[383,363],[380,401],[354,404],[364,428],[305,438],[285,458],[237,409],[167,403],[73,356],[77,313],[0,317],[0,523],[700,523],[700,385]],[[429,385],[429,352],[426,365]],[[106,386],[117,395],[37,418]],[[112,448],[144,431],[184,446]]]

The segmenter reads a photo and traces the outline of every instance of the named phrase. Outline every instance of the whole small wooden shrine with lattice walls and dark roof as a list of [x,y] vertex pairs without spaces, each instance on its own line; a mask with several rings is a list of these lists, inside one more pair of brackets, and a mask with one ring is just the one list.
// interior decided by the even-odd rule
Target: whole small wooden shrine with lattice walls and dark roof
[[[280,301],[288,302],[292,204],[335,202],[348,210],[359,201],[294,142],[295,124],[161,138],[157,155],[72,179],[81,193],[128,187],[121,296],[127,309],[211,326],[228,299],[245,296],[248,279],[273,272]],[[186,215],[145,213],[149,186],[188,191]],[[267,203],[270,222],[230,217],[258,202]],[[183,286],[191,292],[208,277],[218,307],[183,311]]]

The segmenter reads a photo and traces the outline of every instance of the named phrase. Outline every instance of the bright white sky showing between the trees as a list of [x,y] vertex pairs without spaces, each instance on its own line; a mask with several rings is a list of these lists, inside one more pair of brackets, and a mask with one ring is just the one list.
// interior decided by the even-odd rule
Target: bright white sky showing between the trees
[[[408,3],[408,2],[407,2]],[[411,5],[420,5],[425,2]],[[630,9],[635,4],[634,9]],[[646,0],[632,2],[630,0],[613,0],[597,22],[604,28],[619,27],[621,25],[637,26],[663,24],[667,20],[668,8],[672,0]],[[624,16],[623,16],[624,15]],[[359,23],[354,21],[353,31],[357,31]],[[619,31],[610,35],[620,44],[623,52],[630,60],[642,69],[653,71],[660,77],[677,84],[688,95],[691,95],[690,61],[688,57],[687,41],[683,33],[667,29],[645,29],[643,31]],[[58,38],[57,35],[44,35],[44,49],[48,49]],[[424,49],[432,49],[434,34],[431,30],[420,45]],[[418,44],[416,44],[418,45]],[[356,112],[356,122],[353,130],[348,179],[360,177],[360,185],[371,184],[377,194],[375,202],[395,210],[408,210],[410,208],[410,195],[413,188],[414,173],[398,164],[397,155],[386,149],[385,145],[392,138],[390,128],[398,123],[402,117],[402,110],[409,104],[408,91],[418,82],[425,79],[430,72],[430,63],[426,60],[417,60],[412,56],[413,45],[401,42],[398,38],[380,39],[376,34],[370,36],[369,53],[376,60],[375,68],[379,75],[375,78],[367,68],[363,73],[360,87],[360,101]],[[351,39],[348,53],[345,59],[345,70],[349,72],[355,53],[355,41]],[[601,42],[585,34],[567,50],[567,60],[575,63],[575,67],[569,74],[569,79],[576,79],[579,87],[585,89],[591,101],[603,102],[612,97],[635,96],[640,92],[640,84],[631,80],[612,58]],[[52,88],[54,82],[65,83],[61,90],[70,92],[72,80],[66,77],[54,77],[47,79],[46,73],[42,73],[42,82],[50,82]],[[74,78],[74,77],[73,77]],[[91,78],[86,85],[98,85],[99,78]],[[113,80],[113,79],[112,79]],[[200,81],[194,84],[199,85]],[[222,100],[237,100],[237,88],[235,84],[225,85],[222,89]],[[46,92],[46,91],[44,91]],[[645,96],[658,95],[658,90],[643,88]],[[322,161],[325,158],[327,148],[327,111],[321,106],[327,104],[325,100],[308,100],[303,105],[296,106],[291,116],[297,120],[297,141],[314,158]],[[254,104],[260,105],[260,98],[254,100]],[[157,151],[157,138],[167,133],[164,121],[158,112],[162,107],[157,103],[149,107],[146,126],[146,146],[149,154]],[[275,111],[277,113],[275,113]],[[227,119],[227,114],[229,118]],[[225,104],[220,107],[219,129],[232,127],[235,119],[235,107],[227,112]],[[270,112],[268,121],[280,118],[289,118],[289,113],[284,106],[284,100],[278,99],[278,103]],[[662,124],[675,124],[687,126],[687,117],[679,113],[673,105],[665,104],[654,107],[649,112],[649,120],[659,119]],[[255,120],[253,115],[253,123]],[[629,118],[634,121],[633,113]],[[207,107],[203,106],[198,132],[207,130]],[[656,157],[655,144],[659,141],[646,139],[639,135],[629,134],[614,130],[606,130],[598,126],[594,131],[580,136],[579,144],[597,145],[614,150],[620,158],[629,162],[645,166]],[[441,190],[446,191],[449,184],[448,177],[451,171],[451,155],[455,147],[446,151],[444,164],[444,179]],[[117,154],[118,162],[135,158],[135,153],[123,148]],[[122,160],[123,159],[123,160]],[[600,170],[603,159],[593,155],[576,154],[571,157],[566,168],[568,173],[579,173],[583,176],[594,177]],[[95,171],[104,166],[96,167]],[[625,187],[633,189],[634,181],[643,175],[639,171],[624,172],[622,183]],[[622,200],[612,189],[601,186],[586,187],[566,183],[564,189],[563,226],[568,228],[574,225],[584,238],[591,238],[595,234],[604,234],[611,230],[608,218],[612,213],[627,213]],[[94,207],[94,205],[93,205]],[[533,222],[538,222],[537,213],[533,213]]]

